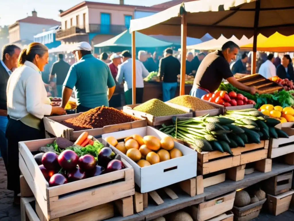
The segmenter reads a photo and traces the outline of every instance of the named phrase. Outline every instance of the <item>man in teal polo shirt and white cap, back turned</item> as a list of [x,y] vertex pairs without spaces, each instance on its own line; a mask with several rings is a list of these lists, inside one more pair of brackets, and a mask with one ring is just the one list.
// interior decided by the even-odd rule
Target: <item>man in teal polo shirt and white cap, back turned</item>
[[75,64],[71,65],[63,84],[61,106],[65,108],[76,86],[77,112],[85,112],[98,106],[109,106],[115,89],[115,81],[106,63],[91,54],[88,42],[74,45]]

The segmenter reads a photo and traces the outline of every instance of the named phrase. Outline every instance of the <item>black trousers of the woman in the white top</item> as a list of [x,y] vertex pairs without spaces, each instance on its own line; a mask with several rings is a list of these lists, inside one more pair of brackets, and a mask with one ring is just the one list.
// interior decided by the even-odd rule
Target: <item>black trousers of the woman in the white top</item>
[[6,128],[8,141],[8,167],[7,167],[7,189],[13,190],[14,194],[20,193],[19,184],[19,142],[31,141],[45,138],[44,123],[41,122],[41,130],[26,126],[21,121],[9,119]]

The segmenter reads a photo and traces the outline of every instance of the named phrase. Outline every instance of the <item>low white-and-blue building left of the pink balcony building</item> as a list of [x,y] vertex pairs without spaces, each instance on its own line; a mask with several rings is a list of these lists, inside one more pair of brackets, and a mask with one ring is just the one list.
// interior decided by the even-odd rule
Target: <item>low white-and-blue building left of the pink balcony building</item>
[[56,31],[59,29],[60,25],[49,28],[42,33],[36,34],[34,36],[34,42],[39,42],[46,45],[49,49],[55,48],[61,44],[61,41],[56,41]]

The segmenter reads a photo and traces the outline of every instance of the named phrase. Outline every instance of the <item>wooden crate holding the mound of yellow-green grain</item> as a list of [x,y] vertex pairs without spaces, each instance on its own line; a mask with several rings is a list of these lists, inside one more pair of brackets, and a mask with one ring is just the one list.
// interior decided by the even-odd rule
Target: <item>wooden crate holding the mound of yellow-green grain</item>
[[[169,103],[167,103],[168,105],[170,105]],[[176,104],[172,104],[170,106],[176,107],[179,110],[183,110],[186,113],[184,114],[177,114],[177,115],[169,115],[169,116],[161,116],[161,117],[155,117],[151,114],[148,113],[144,113],[138,110],[133,110],[134,107],[138,106],[140,104],[131,104],[131,105],[126,105],[123,106],[123,112],[131,114],[135,117],[140,117],[140,118],[145,118],[147,120],[147,125],[148,126],[159,126],[163,123],[168,123],[171,122],[171,119],[173,118],[173,116],[177,116],[177,117],[193,117],[193,110],[190,108],[186,108],[180,105],[176,105]]]

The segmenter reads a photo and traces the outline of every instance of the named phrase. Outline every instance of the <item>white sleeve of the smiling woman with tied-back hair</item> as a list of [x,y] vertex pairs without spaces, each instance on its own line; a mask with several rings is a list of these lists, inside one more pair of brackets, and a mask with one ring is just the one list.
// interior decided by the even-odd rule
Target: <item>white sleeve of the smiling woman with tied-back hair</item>
[[50,115],[52,106],[45,104],[43,97],[44,83],[41,76],[31,75],[25,83],[26,92],[26,109],[27,112],[36,116],[37,118],[43,119],[44,115]]

